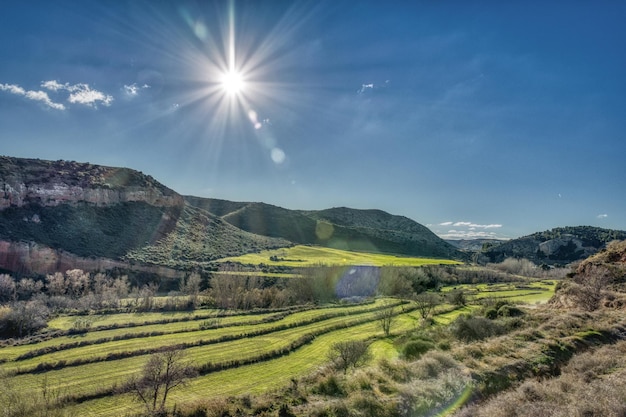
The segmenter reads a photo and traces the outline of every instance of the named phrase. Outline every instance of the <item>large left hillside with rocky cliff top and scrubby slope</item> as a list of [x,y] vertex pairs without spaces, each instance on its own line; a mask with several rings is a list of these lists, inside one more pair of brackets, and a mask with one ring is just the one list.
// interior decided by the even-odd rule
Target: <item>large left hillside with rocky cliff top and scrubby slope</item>
[[[128,168],[0,157],[0,268],[50,273],[197,262],[290,245],[236,229]],[[133,266],[134,267],[134,266]]]

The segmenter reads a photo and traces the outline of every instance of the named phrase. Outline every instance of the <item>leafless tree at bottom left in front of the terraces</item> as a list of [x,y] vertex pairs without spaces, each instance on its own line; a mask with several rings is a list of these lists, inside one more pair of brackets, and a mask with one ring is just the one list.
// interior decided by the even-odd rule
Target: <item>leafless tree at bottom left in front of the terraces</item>
[[181,349],[169,349],[151,355],[141,375],[131,378],[125,388],[145,405],[149,415],[164,416],[169,393],[196,374]]

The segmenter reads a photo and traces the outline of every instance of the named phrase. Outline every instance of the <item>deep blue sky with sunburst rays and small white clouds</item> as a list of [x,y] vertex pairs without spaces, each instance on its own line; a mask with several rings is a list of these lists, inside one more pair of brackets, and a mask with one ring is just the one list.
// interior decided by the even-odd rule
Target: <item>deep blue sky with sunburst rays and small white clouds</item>
[[444,237],[626,230],[624,21],[619,1],[9,0],[0,154]]

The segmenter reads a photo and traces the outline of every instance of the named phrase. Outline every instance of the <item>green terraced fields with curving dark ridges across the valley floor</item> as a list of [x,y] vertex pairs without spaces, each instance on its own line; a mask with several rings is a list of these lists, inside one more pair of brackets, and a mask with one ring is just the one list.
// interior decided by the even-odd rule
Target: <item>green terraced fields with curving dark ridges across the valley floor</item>
[[[553,288],[553,283],[537,283],[524,288],[465,286],[464,290],[476,298],[532,296],[534,300],[540,295],[545,301]],[[257,314],[198,310],[91,315],[86,317],[91,325],[80,331],[73,329],[77,317],[66,316],[50,323],[56,332],[48,340],[0,347],[0,368],[24,392],[40,392],[45,381],[47,390],[69,400],[67,407],[75,415],[119,416],[138,410],[139,405],[116,388],[138,374],[150,354],[168,347],[183,348],[199,372],[184,390],[172,393],[172,403],[285,386],[327,362],[328,349],[336,341],[369,339],[375,356],[397,356],[377,319],[388,308],[397,314],[394,333],[419,325],[413,303],[389,299]],[[435,322],[449,323],[471,309],[441,305]]]

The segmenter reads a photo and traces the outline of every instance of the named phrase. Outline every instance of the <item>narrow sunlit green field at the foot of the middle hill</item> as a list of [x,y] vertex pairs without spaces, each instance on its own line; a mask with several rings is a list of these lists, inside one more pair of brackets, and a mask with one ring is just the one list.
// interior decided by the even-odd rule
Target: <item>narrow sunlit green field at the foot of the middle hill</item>
[[[270,258],[276,260],[270,260]],[[456,265],[460,262],[449,259],[415,258],[380,253],[351,252],[321,246],[293,246],[259,253],[250,253],[232,258],[223,258],[220,262],[238,262],[246,265],[276,265],[289,267],[307,267],[315,265],[372,265],[372,266],[422,266]]]

